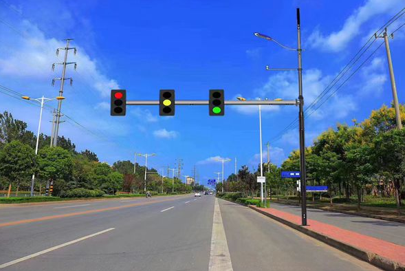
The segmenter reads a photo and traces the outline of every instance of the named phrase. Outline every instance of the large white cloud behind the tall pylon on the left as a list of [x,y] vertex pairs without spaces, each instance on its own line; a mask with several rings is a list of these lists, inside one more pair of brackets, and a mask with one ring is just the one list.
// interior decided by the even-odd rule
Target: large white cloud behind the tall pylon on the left
[[[63,62],[63,53],[55,55],[56,48],[65,47],[65,41],[59,41],[54,38],[47,38],[45,34],[29,21],[22,21],[18,25],[22,29],[24,38],[20,37],[13,41],[13,47],[0,45],[0,75],[9,78],[36,79],[50,81],[51,78],[61,76],[61,65],[56,65],[52,72],[52,63]],[[96,89],[102,97],[108,97],[110,89],[118,89],[120,86],[117,81],[108,78],[100,72],[98,63],[91,59],[82,47],[79,47],[74,41],[69,45],[77,47],[76,56],[73,50],[69,51],[68,61],[78,63],[78,71],[74,72],[72,65],[67,69],[66,77],[74,77],[74,80],[83,80],[93,89]]]

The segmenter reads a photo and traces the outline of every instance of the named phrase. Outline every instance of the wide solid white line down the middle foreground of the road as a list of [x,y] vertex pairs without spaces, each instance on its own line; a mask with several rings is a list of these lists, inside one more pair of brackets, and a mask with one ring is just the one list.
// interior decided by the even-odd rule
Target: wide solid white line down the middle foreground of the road
[[223,228],[221,209],[215,198],[214,218],[212,219],[212,235],[210,263],[208,271],[233,271],[225,229]]

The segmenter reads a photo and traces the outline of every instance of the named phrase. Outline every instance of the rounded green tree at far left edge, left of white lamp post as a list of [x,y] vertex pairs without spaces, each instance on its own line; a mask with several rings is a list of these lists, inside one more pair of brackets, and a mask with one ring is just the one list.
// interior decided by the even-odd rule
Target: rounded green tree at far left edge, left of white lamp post
[[30,182],[34,172],[35,153],[28,144],[17,140],[7,143],[0,152],[0,174],[9,184],[16,184],[18,195],[21,182]]

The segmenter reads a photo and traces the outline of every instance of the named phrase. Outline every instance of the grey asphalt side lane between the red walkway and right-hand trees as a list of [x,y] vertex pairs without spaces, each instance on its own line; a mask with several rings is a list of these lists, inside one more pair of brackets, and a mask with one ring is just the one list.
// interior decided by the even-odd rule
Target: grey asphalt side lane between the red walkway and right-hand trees
[[[287,204],[271,204],[271,208],[282,210],[287,213],[301,216],[300,206]],[[325,210],[307,208],[308,219],[314,219],[323,223],[331,224],[345,230],[369,235],[383,239],[391,243],[405,246],[405,224],[394,221],[385,221],[369,217],[359,217],[342,213],[327,212]]]

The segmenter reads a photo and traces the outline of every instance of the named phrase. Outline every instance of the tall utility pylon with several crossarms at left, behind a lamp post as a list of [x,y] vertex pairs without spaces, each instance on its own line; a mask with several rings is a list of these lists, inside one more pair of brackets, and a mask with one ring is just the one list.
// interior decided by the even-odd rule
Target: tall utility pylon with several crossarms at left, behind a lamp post
[[[61,78],[54,78],[52,79],[52,85],[54,85],[55,80],[61,80],[61,88],[59,89],[59,96],[63,96],[63,86],[65,85],[65,80],[70,80],[70,85],[73,83],[73,79],[71,78],[65,78],[66,75],[66,65],[71,65],[74,64],[74,69],[76,69],[77,64],[76,62],[67,62],[67,53],[69,50],[74,50],[74,54],[76,55],[76,47],[69,47],[70,41],[73,39],[66,39],[66,47],[65,48],[58,48],[56,49],[56,56],[58,56],[60,50],[65,50],[65,58],[63,60],[63,63],[54,63],[52,64],[52,70],[55,69],[55,65],[62,65],[62,77]],[[53,146],[56,147],[58,144],[58,133],[59,133],[59,124],[61,123],[61,107],[62,107],[62,100],[58,101],[58,109],[56,111],[56,121],[55,121],[55,127],[54,127],[54,138],[53,138]]]

